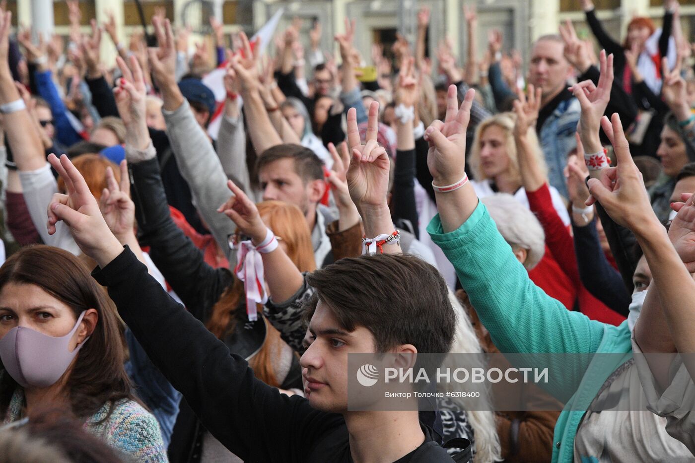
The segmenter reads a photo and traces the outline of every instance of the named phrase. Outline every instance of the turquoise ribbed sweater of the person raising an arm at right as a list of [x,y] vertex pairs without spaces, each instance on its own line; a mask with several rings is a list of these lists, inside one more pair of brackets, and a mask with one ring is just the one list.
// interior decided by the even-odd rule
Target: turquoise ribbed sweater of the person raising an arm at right
[[557,373],[550,369],[548,391],[566,403],[555,425],[553,462],[572,462],[582,416],[607,377],[632,357],[627,323],[616,327],[589,320],[550,298],[529,279],[482,203],[457,230],[445,234],[435,216],[427,232],[456,268],[501,352],[621,354],[577,356]]

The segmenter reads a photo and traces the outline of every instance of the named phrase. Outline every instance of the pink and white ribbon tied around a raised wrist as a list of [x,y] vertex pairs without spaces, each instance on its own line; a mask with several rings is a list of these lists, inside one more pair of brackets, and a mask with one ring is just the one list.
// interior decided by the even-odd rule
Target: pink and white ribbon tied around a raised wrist
[[268,293],[265,292],[265,273],[263,273],[263,257],[261,254],[275,251],[277,238],[268,229],[265,239],[258,246],[254,246],[251,240],[242,241],[238,245],[236,256],[237,264],[234,274],[244,282],[246,293],[246,314],[250,321],[258,320],[256,304],[268,302]]

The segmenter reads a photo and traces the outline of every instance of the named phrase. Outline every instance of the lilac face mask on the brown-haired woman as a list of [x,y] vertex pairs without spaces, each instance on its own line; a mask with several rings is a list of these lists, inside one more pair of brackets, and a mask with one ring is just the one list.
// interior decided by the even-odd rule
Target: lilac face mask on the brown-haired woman
[[31,328],[16,326],[0,339],[0,359],[5,369],[22,387],[49,387],[63,376],[87,337],[70,352],[74,336],[85,312],[65,336],[54,337]]

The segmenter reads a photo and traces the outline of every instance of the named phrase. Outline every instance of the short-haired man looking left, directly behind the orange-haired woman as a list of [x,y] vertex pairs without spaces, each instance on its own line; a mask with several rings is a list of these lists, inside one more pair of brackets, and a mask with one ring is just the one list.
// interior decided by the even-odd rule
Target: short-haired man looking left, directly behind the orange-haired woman
[[263,200],[284,201],[299,207],[311,232],[316,267],[331,261],[331,241],[326,225],[335,220],[329,209],[321,206],[327,184],[323,163],[309,148],[300,145],[275,145],[266,149],[258,161],[256,172],[263,190]]

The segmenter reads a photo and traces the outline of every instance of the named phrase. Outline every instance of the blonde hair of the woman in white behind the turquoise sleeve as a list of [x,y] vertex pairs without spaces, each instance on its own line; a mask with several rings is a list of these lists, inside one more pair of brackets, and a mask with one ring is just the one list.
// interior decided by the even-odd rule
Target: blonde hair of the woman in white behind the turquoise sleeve
[[[480,122],[480,124],[478,124],[477,128],[475,129],[473,146],[471,147],[471,156],[468,159],[468,165],[471,165],[471,170],[473,171],[473,175],[475,175],[476,180],[487,179],[484,172],[482,172],[480,169],[480,139],[482,138],[482,134],[486,129],[496,126],[502,129],[502,131],[505,133],[505,147],[507,156],[509,156],[509,173],[511,173],[512,178],[518,181],[518,184],[521,185],[521,174],[519,173],[516,143],[514,142],[514,124],[516,124],[515,113],[499,113],[488,117],[486,120],[483,120]],[[534,129],[529,129],[528,140],[533,147],[533,155],[536,157],[536,162],[541,166],[543,174],[547,174],[548,166],[546,165],[546,159],[543,157],[541,145]]]

